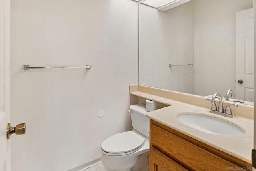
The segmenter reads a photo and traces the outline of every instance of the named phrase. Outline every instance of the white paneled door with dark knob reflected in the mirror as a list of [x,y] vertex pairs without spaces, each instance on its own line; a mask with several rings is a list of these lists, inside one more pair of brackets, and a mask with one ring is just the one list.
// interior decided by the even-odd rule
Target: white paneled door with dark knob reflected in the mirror
[[236,99],[254,101],[253,9],[236,12]]

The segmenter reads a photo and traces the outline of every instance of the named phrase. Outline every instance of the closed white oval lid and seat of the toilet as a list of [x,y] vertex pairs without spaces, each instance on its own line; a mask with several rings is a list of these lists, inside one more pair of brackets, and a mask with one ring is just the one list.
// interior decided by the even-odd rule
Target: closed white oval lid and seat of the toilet
[[101,149],[107,153],[127,153],[140,149],[145,139],[132,131],[112,135],[101,144]]

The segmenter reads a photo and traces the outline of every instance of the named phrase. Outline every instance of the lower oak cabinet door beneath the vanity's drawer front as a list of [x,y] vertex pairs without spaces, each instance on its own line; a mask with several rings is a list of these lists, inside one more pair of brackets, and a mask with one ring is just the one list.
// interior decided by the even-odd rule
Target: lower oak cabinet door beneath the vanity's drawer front
[[150,147],[150,171],[186,171],[184,167],[156,150]]

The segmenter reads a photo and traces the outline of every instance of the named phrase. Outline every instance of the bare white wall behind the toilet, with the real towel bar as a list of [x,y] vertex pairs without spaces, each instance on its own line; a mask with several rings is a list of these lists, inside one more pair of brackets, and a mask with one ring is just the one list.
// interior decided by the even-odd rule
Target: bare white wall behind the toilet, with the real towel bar
[[[11,121],[27,124],[11,140],[12,170],[64,171],[101,157],[102,141],[132,129],[137,2],[11,2]],[[23,71],[24,64],[93,68]]]

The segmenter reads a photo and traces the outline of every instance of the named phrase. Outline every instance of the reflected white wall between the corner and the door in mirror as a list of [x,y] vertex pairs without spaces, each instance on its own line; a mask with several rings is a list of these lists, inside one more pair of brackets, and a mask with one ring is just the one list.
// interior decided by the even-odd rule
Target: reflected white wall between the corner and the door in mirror
[[236,89],[236,12],[252,0],[193,1],[194,93],[225,95]]

